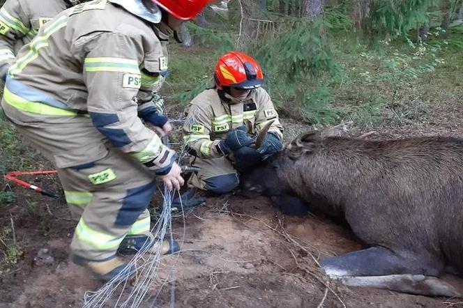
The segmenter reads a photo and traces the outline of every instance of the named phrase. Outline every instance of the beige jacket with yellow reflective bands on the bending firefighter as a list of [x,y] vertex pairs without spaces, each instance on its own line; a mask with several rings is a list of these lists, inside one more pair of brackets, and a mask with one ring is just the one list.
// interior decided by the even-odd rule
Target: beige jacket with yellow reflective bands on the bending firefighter
[[149,22],[96,0],[59,14],[21,49],[4,100],[29,114],[89,116],[114,147],[165,174],[174,152],[142,123],[138,116],[149,116],[155,107],[139,106],[136,95],[157,86],[166,69]]

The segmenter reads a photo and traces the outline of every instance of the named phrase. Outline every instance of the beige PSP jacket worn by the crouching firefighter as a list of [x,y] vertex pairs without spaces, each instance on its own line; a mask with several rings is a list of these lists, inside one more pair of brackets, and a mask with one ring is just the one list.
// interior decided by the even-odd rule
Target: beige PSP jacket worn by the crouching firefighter
[[223,153],[218,144],[229,130],[245,125],[248,134],[257,134],[268,121],[273,121],[268,131],[282,140],[282,125],[264,88],[252,90],[245,100],[227,101],[220,98],[215,88],[211,88],[199,93],[190,102],[183,125],[183,140],[197,157],[221,157]]

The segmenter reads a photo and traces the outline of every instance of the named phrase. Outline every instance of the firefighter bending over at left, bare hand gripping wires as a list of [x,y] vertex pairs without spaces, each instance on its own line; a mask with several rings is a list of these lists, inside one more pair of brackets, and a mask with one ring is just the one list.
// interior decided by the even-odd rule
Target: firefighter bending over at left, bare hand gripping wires
[[167,14],[167,26],[174,27],[176,17],[194,15],[205,5],[203,0],[82,3],[42,26],[8,70],[3,111],[56,165],[71,212],[80,217],[73,259],[100,279],[133,272],[118,249],[121,254],[134,254],[143,245],[164,254],[179,249],[150,232],[146,208],[155,175],[169,189],[179,189],[183,178],[176,153],[142,119],[164,132],[168,123],[153,102],[139,103],[137,93],[155,88],[167,70],[153,24]]

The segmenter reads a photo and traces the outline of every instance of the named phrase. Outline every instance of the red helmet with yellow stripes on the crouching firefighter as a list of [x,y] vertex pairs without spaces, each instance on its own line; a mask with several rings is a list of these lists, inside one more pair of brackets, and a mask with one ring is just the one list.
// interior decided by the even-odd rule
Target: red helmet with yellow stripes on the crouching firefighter
[[264,74],[252,57],[242,52],[227,52],[220,57],[214,69],[215,85],[234,88],[259,88],[264,82]]

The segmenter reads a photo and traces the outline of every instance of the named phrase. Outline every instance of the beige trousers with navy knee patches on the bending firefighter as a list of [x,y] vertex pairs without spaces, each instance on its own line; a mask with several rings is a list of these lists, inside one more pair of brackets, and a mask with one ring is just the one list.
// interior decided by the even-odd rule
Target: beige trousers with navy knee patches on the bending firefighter
[[2,101],[25,139],[54,162],[66,202],[79,219],[71,251],[91,261],[112,259],[127,235],[149,234],[154,174],[109,147],[83,115],[29,114]]

